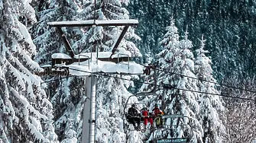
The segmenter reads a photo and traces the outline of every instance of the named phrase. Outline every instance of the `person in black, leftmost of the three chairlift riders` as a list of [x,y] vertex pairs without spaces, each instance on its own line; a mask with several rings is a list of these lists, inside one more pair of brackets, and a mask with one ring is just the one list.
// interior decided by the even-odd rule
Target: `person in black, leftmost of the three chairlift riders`
[[[140,129],[141,124],[141,113],[136,108],[135,104],[132,104],[131,107],[128,109],[128,122],[134,126],[134,129]],[[137,123],[137,126],[136,126]]]

